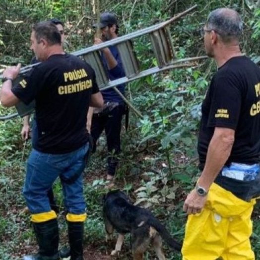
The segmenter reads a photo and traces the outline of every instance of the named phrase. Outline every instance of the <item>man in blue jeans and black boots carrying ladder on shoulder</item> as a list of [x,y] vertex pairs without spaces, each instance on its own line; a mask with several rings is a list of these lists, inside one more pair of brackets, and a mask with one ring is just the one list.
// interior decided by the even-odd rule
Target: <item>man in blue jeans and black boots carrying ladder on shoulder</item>
[[86,219],[82,172],[89,150],[86,116],[89,106],[102,107],[103,98],[94,70],[79,58],[66,54],[61,34],[51,22],[33,26],[31,49],[40,65],[16,86],[12,81],[20,65],[3,72],[0,102],[5,107],[20,100],[35,100],[38,138],[30,153],[23,189],[39,245],[39,253],[24,260],[58,260],[57,215],[47,192],[61,178],[68,225],[70,259],[83,260]]

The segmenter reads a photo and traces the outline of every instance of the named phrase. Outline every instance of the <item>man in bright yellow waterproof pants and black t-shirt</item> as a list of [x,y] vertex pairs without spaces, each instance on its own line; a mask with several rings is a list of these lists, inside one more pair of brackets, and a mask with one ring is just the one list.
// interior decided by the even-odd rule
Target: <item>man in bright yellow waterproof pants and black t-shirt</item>
[[255,260],[251,214],[260,195],[260,69],[242,55],[239,14],[212,11],[201,32],[218,71],[202,104],[195,189],[183,209],[189,214],[183,260]]

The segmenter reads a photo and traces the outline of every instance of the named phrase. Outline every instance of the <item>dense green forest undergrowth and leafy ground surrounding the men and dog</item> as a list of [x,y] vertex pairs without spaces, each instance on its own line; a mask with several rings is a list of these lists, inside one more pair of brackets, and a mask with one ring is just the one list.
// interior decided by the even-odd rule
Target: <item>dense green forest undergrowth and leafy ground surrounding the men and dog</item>
[[[120,34],[165,21],[197,4],[195,11],[174,22],[171,35],[178,59],[205,55],[199,29],[208,13],[218,7],[238,10],[244,21],[241,39],[243,53],[260,62],[260,0],[1,0],[0,1],[0,67],[28,65],[31,26],[35,22],[57,17],[65,23],[67,52],[93,44],[92,24],[98,11],[117,14]],[[95,6],[95,8],[94,8]],[[97,6],[99,7],[97,9]],[[134,40],[134,50],[141,70],[156,65],[148,37]],[[216,65],[211,59],[193,67],[172,69],[133,81],[127,98],[143,115],[130,111],[128,131],[122,130],[122,154],[117,171],[117,187],[126,191],[136,204],[149,208],[178,240],[184,237],[187,219],[182,211],[186,195],[198,176],[196,141],[200,105]],[[0,117],[14,113],[0,106]],[[20,136],[19,117],[0,121],[0,259],[20,259],[37,251],[29,216],[22,214],[25,206],[22,185],[26,158],[31,149]],[[85,258],[110,259],[115,245],[105,241],[102,222],[102,195],[105,194],[106,143],[102,136],[99,149],[92,156],[85,174],[85,197],[88,220],[85,223]],[[59,181],[55,194],[60,206],[61,244],[67,243],[63,215],[63,197]],[[259,204],[253,213],[252,246],[260,259]],[[167,259],[180,260],[164,244]],[[123,246],[120,259],[130,259],[130,239]],[[149,250],[146,260],[156,259]]]

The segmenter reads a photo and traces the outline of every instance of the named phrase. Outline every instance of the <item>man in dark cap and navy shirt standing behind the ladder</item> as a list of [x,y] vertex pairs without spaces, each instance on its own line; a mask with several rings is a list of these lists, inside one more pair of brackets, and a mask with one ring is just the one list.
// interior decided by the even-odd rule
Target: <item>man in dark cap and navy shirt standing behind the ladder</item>
[[[113,13],[105,12],[100,16],[99,23],[93,25],[101,31],[101,37],[95,37],[94,45],[109,41],[118,37],[119,26],[116,16]],[[110,46],[101,50],[101,58],[110,80],[115,80],[125,76],[122,61],[116,46]],[[125,84],[118,85],[117,88],[124,95]],[[89,111],[87,119],[87,129],[91,132],[94,141],[93,151],[96,149],[96,142],[105,130],[108,148],[108,168],[107,180],[113,186],[113,180],[118,164],[118,154],[121,151],[120,133],[122,117],[126,114],[126,104],[122,97],[113,89],[101,91],[104,104],[102,110]]]

